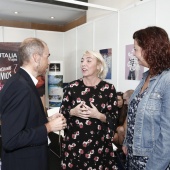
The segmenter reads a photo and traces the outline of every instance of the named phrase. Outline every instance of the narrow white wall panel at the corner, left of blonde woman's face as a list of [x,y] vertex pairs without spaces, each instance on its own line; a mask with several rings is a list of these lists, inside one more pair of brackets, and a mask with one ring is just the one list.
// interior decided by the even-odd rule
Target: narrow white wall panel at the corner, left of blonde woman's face
[[64,34],[64,82],[68,83],[76,79],[76,28]]

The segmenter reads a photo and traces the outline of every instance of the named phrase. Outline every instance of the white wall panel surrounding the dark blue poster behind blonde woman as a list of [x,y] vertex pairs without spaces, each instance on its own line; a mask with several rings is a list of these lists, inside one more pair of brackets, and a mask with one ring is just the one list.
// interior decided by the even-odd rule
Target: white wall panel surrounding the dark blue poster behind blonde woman
[[94,26],[94,50],[112,48],[112,78],[107,81],[117,86],[118,14],[98,19]]

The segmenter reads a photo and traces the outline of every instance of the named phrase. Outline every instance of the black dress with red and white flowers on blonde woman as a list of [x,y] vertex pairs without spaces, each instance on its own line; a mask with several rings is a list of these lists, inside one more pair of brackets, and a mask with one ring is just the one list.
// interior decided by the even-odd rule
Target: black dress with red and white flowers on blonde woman
[[[107,123],[94,118],[71,117],[70,109],[81,101],[88,106],[92,102],[99,112],[106,115]],[[73,81],[64,89],[61,112],[67,119],[62,169],[116,170],[111,143],[118,118],[114,86],[101,81],[95,87],[87,87],[82,79]]]

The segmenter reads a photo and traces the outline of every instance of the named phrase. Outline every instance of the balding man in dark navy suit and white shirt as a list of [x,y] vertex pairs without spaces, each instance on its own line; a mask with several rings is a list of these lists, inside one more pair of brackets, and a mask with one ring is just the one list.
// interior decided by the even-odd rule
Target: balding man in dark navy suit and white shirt
[[48,170],[48,133],[64,129],[65,118],[46,118],[36,89],[39,75],[49,65],[47,44],[37,38],[19,47],[21,68],[0,93],[2,170]]

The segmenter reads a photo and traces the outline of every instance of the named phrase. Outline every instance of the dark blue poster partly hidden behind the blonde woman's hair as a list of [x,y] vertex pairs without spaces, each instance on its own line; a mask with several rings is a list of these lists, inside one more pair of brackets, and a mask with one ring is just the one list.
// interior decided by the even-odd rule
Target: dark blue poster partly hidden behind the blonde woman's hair
[[102,49],[100,50],[100,54],[103,56],[108,67],[108,72],[105,79],[111,79],[112,78],[112,49],[111,48]]

